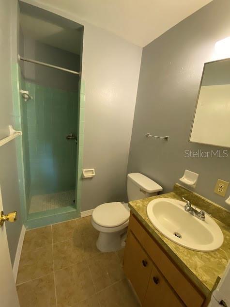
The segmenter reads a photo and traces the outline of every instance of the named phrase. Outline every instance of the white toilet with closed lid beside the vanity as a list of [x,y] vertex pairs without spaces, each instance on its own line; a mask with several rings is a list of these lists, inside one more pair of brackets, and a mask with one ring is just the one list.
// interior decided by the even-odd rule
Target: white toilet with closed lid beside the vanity
[[[162,187],[152,179],[140,174],[128,174],[128,200],[157,195]],[[92,226],[98,230],[96,245],[101,252],[113,252],[124,247],[130,210],[121,202],[105,203],[92,211]]]

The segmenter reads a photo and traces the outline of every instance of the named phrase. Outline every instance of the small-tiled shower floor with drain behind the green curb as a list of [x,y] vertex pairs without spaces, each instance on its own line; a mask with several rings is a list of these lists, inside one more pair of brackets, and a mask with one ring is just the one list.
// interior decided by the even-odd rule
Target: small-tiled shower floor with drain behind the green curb
[[74,204],[75,190],[53,194],[31,196],[31,206],[29,213],[46,211]]

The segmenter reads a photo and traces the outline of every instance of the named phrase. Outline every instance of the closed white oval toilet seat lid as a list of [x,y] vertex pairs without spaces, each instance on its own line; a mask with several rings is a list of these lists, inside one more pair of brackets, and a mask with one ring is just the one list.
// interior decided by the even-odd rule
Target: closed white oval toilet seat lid
[[92,212],[92,220],[102,227],[118,227],[129,219],[130,210],[127,204],[121,202],[105,203]]

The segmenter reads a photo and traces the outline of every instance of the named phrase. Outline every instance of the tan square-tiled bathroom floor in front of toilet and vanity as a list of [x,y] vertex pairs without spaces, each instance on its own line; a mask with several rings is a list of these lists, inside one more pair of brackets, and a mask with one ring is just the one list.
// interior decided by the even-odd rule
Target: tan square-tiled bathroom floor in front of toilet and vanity
[[138,307],[123,250],[100,253],[91,217],[28,230],[17,275],[20,307]]

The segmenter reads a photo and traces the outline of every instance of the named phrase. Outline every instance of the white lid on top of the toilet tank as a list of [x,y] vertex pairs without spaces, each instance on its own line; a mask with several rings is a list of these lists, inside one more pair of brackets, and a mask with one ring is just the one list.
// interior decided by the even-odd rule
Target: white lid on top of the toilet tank
[[140,187],[142,190],[148,192],[148,193],[154,193],[162,191],[163,188],[153,181],[152,179],[140,174],[140,173],[131,173],[128,174],[128,178],[136,184],[138,187]]

